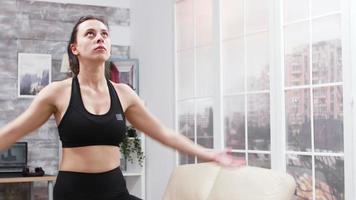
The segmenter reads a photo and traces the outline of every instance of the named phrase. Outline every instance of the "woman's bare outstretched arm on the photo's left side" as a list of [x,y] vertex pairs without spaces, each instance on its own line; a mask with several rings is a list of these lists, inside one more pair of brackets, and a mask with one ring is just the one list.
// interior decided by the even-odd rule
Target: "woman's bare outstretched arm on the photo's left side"
[[40,127],[56,111],[53,85],[52,83],[43,88],[25,112],[0,128],[0,151]]

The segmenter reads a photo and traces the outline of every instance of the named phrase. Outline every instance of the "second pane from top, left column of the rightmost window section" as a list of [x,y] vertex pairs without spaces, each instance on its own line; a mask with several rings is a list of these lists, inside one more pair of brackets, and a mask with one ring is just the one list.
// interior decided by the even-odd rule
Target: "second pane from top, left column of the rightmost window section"
[[309,23],[297,23],[285,28],[285,85],[307,85],[310,82]]

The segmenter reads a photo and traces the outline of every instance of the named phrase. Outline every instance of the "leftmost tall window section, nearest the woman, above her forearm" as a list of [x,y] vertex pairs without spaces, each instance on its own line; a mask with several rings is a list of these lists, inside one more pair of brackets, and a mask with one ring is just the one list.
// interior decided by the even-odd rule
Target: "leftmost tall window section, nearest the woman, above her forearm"
[[[213,54],[213,1],[184,0],[176,4],[178,129],[192,141],[214,148],[216,65]],[[180,163],[198,162],[181,155]]]

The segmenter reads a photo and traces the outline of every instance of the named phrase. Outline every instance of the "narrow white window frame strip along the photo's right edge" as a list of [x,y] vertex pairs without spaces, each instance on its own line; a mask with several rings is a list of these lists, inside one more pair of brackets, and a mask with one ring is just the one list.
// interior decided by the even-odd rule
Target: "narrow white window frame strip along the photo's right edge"
[[[356,2],[354,0],[343,0],[342,9],[345,15],[342,18],[342,25],[349,27],[343,36],[345,36],[346,49],[343,60],[346,69],[344,70],[345,88],[344,90],[344,121],[345,129],[345,199],[351,200],[356,198]],[[348,184],[347,184],[348,183]]]

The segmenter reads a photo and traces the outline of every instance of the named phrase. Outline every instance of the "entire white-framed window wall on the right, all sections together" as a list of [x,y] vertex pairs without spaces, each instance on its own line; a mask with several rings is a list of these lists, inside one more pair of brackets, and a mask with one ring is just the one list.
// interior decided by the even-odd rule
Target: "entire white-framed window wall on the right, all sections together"
[[[297,182],[296,200],[356,199],[344,175],[346,159],[356,159],[344,144],[352,119],[344,115],[351,83],[343,76],[350,41],[342,20],[351,16],[341,5],[349,2],[176,0],[179,131],[208,148],[230,147],[248,165],[281,165]],[[271,79],[278,74],[283,81]],[[277,90],[283,95],[272,96]],[[283,130],[273,127],[274,113]],[[273,150],[279,136],[285,142]],[[180,164],[195,162],[180,155]]]

